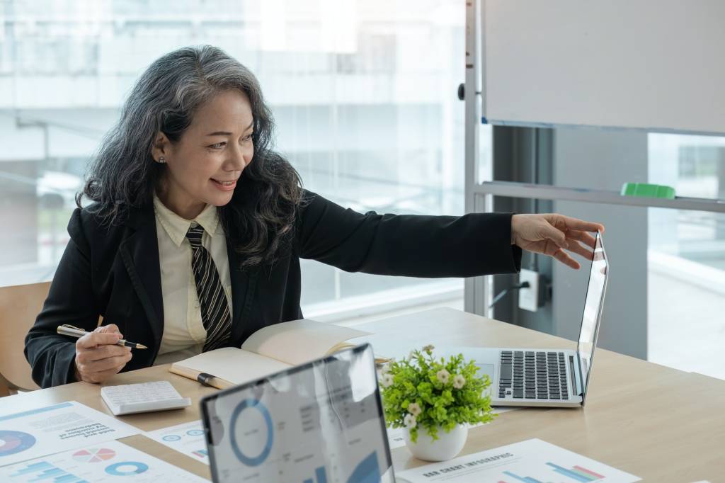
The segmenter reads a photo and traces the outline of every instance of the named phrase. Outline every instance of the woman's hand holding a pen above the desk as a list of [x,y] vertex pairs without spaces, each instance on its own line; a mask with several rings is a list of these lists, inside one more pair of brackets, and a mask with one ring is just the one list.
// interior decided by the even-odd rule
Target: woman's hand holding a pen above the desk
[[97,384],[123,369],[131,360],[131,348],[116,345],[120,339],[114,323],[80,337],[75,342],[75,379]]

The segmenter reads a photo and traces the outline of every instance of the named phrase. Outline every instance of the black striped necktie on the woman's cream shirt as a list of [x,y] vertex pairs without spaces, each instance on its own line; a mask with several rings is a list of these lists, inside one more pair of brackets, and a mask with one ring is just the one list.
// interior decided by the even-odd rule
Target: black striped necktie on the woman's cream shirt
[[191,268],[196,281],[196,295],[202,308],[202,323],[207,329],[204,352],[224,347],[231,339],[231,316],[224,288],[212,255],[202,246],[204,228],[192,226],[186,232],[191,244]]

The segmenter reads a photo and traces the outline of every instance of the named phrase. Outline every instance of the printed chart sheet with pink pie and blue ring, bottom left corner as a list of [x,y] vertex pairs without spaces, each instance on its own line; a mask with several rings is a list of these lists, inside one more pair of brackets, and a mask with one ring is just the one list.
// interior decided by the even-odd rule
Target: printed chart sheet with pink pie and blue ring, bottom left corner
[[208,483],[207,479],[117,441],[3,466],[0,480],[7,483]]

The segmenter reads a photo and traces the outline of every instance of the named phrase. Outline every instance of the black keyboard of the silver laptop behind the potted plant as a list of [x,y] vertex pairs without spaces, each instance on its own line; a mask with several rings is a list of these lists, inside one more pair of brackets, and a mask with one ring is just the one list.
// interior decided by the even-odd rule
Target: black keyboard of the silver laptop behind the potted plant
[[500,398],[569,398],[564,352],[502,350],[500,365]]

